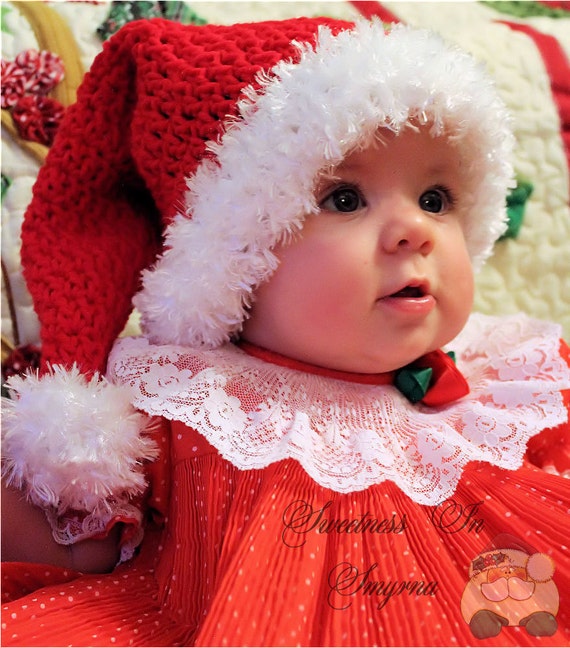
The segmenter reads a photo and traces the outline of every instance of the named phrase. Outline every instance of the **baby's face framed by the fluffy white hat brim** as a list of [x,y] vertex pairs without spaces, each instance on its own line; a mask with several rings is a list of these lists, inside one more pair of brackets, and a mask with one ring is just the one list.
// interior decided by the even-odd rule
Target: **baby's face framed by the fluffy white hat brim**
[[243,337],[340,371],[379,373],[440,348],[473,303],[467,187],[444,138],[407,129],[320,179],[317,214],[275,250]]

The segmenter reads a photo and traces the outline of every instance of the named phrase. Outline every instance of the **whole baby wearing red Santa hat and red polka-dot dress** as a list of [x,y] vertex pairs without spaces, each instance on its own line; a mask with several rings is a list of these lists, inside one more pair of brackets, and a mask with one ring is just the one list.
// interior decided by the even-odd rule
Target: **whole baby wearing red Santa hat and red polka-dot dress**
[[[4,526],[5,645],[565,645],[568,349],[470,315],[512,147],[425,31],[122,29],[23,232],[44,369],[10,383],[5,501],[37,530]],[[524,615],[462,601],[505,534],[546,555]]]

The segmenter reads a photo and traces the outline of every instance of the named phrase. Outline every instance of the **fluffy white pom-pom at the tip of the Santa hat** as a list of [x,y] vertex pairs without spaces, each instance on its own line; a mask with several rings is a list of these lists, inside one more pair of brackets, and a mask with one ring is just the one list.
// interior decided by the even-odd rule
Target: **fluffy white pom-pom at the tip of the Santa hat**
[[104,511],[145,486],[144,460],[157,450],[145,436],[149,419],[130,402],[128,388],[77,367],[53,367],[38,378],[8,381],[3,399],[2,471],[43,508]]

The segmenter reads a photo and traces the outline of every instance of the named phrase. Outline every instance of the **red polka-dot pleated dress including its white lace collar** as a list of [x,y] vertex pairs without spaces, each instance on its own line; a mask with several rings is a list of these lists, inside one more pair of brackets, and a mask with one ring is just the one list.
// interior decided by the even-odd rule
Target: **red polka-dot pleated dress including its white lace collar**
[[[5,565],[3,645],[568,645],[570,496],[549,472],[568,468],[568,403],[537,386],[565,379],[558,351],[540,343],[547,371],[529,399],[514,363],[507,376],[507,364],[478,363],[477,347],[458,342],[471,392],[428,408],[403,405],[391,385],[237,347],[171,348],[171,377],[185,381],[161,395],[141,372],[158,351],[137,344],[111,366],[154,394],[145,411],[163,410],[150,500],[161,515],[111,574]],[[519,407],[507,409],[515,380]],[[375,438],[371,398],[393,421]]]

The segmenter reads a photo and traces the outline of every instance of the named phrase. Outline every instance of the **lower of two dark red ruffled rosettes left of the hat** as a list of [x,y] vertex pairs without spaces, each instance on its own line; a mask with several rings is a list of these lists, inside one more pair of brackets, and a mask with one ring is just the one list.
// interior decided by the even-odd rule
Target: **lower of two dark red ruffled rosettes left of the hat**
[[65,108],[49,97],[22,97],[12,109],[20,137],[51,146]]

